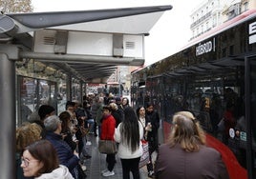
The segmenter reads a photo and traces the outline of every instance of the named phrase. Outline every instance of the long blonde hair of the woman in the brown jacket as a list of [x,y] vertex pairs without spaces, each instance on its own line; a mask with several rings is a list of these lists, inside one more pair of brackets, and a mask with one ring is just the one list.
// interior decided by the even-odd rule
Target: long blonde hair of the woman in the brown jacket
[[198,151],[205,144],[205,133],[194,115],[180,111],[173,116],[173,128],[168,140],[171,148],[177,144],[185,151]]

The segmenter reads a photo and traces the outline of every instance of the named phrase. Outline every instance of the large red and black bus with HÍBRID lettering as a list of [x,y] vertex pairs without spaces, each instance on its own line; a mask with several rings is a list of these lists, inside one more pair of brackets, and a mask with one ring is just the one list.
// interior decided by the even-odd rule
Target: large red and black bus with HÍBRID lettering
[[[192,111],[207,145],[222,153],[229,177],[256,178],[256,10],[134,71],[131,105],[146,102],[159,111],[164,138],[175,112]],[[233,123],[222,130],[218,124],[228,116]]]

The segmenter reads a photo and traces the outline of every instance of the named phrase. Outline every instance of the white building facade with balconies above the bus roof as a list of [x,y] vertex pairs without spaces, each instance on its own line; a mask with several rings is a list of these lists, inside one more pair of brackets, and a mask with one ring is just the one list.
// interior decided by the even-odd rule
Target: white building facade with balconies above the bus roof
[[203,0],[190,15],[192,22],[190,40],[254,8],[256,8],[255,0]]

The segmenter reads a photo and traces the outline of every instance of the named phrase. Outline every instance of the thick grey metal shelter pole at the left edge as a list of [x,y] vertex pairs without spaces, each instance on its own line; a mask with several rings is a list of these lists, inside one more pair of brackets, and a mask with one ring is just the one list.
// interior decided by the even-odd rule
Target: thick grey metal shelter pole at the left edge
[[0,178],[15,176],[15,68],[14,61],[0,52]]

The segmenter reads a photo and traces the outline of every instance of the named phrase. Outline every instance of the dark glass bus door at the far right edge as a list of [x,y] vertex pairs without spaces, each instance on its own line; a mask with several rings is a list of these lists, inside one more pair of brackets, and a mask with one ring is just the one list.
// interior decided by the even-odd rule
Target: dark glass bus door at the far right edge
[[[256,178],[256,56],[245,57],[246,167],[248,178]],[[251,133],[251,135],[248,135]]]

